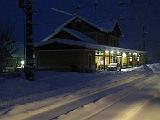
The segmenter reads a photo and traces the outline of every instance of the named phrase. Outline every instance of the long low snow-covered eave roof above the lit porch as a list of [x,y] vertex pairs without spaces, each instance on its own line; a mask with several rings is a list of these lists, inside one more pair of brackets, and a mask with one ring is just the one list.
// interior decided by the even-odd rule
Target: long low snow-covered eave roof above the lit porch
[[111,47],[111,46],[106,46],[106,45],[86,43],[84,41],[75,41],[75,40],[60,39],[60,38],[55,38],[55,39],[50,39],[49,41],[40,42],[40,43],[36,44],[35,47],[47,45],[47,44],[54,43],[54,42],[60,43],[60,44],[66,44],[66,45],[81,46],[81,47],[85,47],[85,48],[88,48],[91,50],[110,50],[110,51],[145,53],[145,51],[131,50],[131,49],[125,49],[125,48],[120,48],[120,47]]

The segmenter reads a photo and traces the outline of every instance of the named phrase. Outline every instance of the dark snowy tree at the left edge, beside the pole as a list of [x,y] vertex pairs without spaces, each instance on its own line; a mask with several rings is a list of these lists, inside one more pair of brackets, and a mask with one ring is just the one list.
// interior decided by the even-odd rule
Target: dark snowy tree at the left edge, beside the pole
[[14,26],[10,23],[0,21],[0,72],[2,72],[15,52]]

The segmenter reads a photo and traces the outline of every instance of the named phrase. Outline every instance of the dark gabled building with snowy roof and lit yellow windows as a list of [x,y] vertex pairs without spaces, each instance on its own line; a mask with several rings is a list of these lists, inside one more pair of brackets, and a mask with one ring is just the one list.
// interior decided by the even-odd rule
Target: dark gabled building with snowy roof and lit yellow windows
[[122,36],[118,22],[104,29],[76,16],[35,45],[37,69],[95,71],[110,63],[123,68],[145,63],[145,52],[119,47]]

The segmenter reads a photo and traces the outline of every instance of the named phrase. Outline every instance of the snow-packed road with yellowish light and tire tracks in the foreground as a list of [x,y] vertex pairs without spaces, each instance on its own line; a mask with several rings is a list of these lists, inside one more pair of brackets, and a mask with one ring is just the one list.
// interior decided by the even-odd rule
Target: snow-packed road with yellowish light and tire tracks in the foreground
[[28,111],[23,110],[27,105],[20,106],[0,117],[0,120],[159,120],[160,118],[160,74],[132,76],[90,90],[87,88],[76,96],[66,96],[48,106]]

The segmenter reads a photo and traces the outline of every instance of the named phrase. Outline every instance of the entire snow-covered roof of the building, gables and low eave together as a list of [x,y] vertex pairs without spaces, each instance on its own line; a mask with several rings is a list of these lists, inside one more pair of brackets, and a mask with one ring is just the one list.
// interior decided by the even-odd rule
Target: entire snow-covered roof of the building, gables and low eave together
[[[131,49],[124,49],[124,48],[119,48],[119,47],[111,47],[111,46],[106,46],[106,45],[99,45],[96,43],[95,40],[93,40],[92,38],[86,36],[85,34],[76,31],[74,29],[71,28],[67,28],[65,27],[68,23],[72,22],[75,19],[79,19],[82,20],[88,24],[90,24],[91,26],[99,29],[100,31],[103,32],[108,32],[108,30],[102,28],[101,26],[106,26],[108,29],[110,29],[111,31],[113,30],[116,21],[113,22],[108,22],[108,24],[106,23],[101,23],[98,25],[95,25],[91,22],[89,22],[88,20],[80,17],[80,16],[75,16],[71,19],[69,19],[67,22],[65,22],[64,24],[62,24],[60,27],[58,27],[55,32],[53,34],[51,34],[50,36],[48,36],[47,38],[45,38],[43,41],[41,41],[38,44],[35,44],[36,47],[41,46],[41,45],[47,45],[53,42],[57,42],[57,43],[62,43],[62,44],[66,44],[66,45],[77,45],[77,46],[82,46],[85,48],[89,48],[89,49],[97,49],[97,50],[115,50],[115,51],[125,51],[125,52],[139,52],[139,53],[144,53],[144,51],[137,51],[137,50],[131,50]],[[70,40],[70,39],[60,39],[60,38],[54,38],[52,39],[52,37],[56,34],[58,34],[59,32],[61,32],[62,30],[68,32],[69,34],[77,37],[78,39],[80,39],[81,41],[75,41],[75,40]]]

